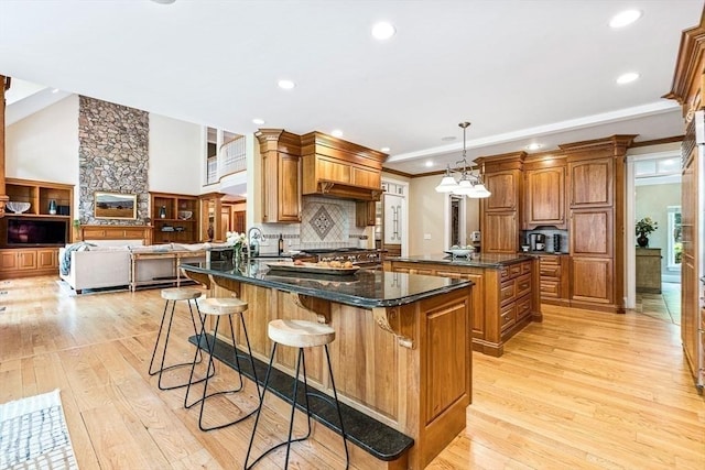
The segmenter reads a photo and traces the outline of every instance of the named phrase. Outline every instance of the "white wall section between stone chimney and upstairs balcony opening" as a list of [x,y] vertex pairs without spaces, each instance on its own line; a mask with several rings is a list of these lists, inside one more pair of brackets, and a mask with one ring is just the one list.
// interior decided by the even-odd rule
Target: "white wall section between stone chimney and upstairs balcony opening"
[[202,125],[150,113],[151,192],[200,194],[204,152]]

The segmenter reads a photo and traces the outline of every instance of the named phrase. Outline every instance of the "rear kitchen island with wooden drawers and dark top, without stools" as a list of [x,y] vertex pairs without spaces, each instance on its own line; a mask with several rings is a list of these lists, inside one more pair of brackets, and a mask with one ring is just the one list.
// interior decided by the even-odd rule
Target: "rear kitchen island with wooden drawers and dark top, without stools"
[[384,271],[475,282],[473,349],[500,357],[505,342],[531,321],[541,321],[539,260],[521,254],[473,253],[388,258]]

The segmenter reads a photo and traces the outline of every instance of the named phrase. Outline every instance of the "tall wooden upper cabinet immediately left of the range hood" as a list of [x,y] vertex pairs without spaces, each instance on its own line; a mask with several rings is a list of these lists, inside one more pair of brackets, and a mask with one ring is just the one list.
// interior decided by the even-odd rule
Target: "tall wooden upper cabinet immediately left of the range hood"
[[301,138],[282,129],[257,133],[262,163],[262,222],[301,221]]

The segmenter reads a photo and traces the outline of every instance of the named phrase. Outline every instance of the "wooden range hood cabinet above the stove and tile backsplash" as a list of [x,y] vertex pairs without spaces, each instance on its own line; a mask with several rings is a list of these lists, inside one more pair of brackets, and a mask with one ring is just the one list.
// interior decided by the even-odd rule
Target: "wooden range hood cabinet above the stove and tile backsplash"
[[380,200],[387,154],[321,132],[301,136],[302,194]]

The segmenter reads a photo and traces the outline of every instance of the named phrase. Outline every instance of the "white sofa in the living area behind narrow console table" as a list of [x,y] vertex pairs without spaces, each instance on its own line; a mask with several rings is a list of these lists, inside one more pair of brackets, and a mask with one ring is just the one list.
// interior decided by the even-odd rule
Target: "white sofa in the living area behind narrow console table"
[[[74,247],[76,248],[76,247]],[[79,250],[69,250],[70,265],[67,274],[59,276],[76,293],[84,289],[130,286],[132,272],[132,252],[162,253],[172,251],[194,251],[194,256],[182,258],[182,262],[205,260],[205,245],[199,244],[156,244],[145,247],[142,240],[87,240]],[[58,251],[59,264],[64,260],[66,248]],[[174,275],[173,258],[159,256],[140,259],[134,265],[133,286],[158,283],[159,280]]]

